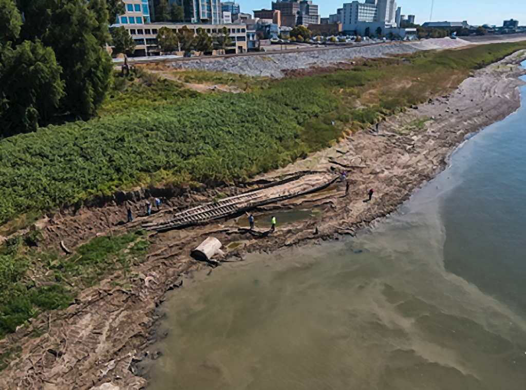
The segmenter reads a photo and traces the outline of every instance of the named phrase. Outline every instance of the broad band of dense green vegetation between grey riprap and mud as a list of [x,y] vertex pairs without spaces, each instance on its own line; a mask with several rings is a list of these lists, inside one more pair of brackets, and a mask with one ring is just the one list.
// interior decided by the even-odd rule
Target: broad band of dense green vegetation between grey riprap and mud
[[198,94],[155,78],[116,86],[98,119],[0,141],[0,224],[138,185],[246,179],[448,92],[472,69],[522,48],[501,43],[368,61],[258,82],[250,93]]

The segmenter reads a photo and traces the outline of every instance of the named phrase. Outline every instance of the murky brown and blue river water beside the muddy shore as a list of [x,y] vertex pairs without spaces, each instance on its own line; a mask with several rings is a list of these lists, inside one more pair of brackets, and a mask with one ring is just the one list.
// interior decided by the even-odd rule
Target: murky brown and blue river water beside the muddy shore
[[522,96],[370,232],[185,281],[148,390],[524,390]]

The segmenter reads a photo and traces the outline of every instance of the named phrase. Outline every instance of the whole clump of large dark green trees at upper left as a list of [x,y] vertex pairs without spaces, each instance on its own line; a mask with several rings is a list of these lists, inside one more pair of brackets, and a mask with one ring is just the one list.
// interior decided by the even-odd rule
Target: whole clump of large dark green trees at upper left
[[119,13],[120,0],[0,0],[0,138],[96,113]]

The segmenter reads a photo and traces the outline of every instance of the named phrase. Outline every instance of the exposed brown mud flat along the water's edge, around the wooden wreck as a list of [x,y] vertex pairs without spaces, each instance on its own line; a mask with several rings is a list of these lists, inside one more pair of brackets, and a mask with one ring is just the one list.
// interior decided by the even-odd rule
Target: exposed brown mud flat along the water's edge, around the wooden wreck
[[[135,363],[157,357],[155,346],[151,346],[156,337],[162,337],[153,332],[158,319],[156,305],[168,289],[177,288],[183,275],[209,266],[192,259],[191,249],[214,236],[227,248],[227,261],[241,261],[247,252],[337,239],[386,216],[415,188],[440,172],[449,153],[466,136],[500,121],[520,106],[518,87],[524,83],[518,77],[526,70],[518,65],[526,56],[519,55],[474,72],[448,96],[433,98],[389,118],[378,132],[360,131],[332,148],[257,178],[271,181],[295,172],[346,170],[351,183],[347,197],[341,183],[255,211],[269,214],[316,209],[315,217],[283,224],[263,237],[238,226],[234,219],[150,236],[147,261],[134,267],[137,277],[124,281],[122,274],[115,274],[83,291],[65,311],[35,320],[0,342],[0,353],[10,348],[18,351],[0,372],[0,388],[124,390],[146,386],[147,380],[141,376],[144,373]],[[375,195],[364,203],[369,188],[375,189]],[[183,207],[199,196],[204,198],[175,194],[171,202]],[[105,210],[80,210],[75,217],[61,214],[45,223],[45,239],[56,244],[68,235],[78,238],[82,235],[79,231],[94,236],[104,229],[78,225],[79,218],[88,221],[90,215],[102,221],[104,212],[116,218],[115,214],[123,211],[123,206],[108,205]],[[263,230],[266,228],[259,228]],[[39,329],[41,335],[35,336],[33,329]]]

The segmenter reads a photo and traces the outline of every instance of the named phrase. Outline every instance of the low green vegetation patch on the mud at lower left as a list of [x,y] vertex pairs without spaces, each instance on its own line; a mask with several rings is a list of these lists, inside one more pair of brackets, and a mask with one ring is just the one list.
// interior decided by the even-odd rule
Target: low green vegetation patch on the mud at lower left
[[[26,242],[37,236],[28,235]],[[144,231],[95,237],[75,255],[58,257],[32,251],[22,236],[9,239],[0,247],[0,337],[43,312],[68,307],[76,291],[98,283],[110,270],[129,274],[148,244]],[[6,358],[0,355],[0,367]]]

